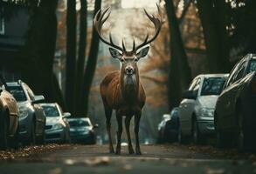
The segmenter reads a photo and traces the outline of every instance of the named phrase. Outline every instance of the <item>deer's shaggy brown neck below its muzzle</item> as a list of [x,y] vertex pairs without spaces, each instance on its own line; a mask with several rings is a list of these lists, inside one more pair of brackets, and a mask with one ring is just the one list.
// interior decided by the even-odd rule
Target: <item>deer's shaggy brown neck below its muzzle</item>
[[127,102],[135,101],[135,98],[139,95],[139,72],[136,70],[136,73],[133,75],[126,75],[121,73],[121,96]]

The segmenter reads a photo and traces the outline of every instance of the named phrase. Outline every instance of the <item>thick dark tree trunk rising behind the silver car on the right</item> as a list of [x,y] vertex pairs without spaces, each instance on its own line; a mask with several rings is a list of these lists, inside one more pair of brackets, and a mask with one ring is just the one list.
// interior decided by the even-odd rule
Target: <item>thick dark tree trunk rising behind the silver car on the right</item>
[[231,68],[224,21],[224,3],[224,1],[219,1],[214,3],[214,7],[213,0],[197,1],[199,17],[204,30],[204,41],[210,73],[228,72]]

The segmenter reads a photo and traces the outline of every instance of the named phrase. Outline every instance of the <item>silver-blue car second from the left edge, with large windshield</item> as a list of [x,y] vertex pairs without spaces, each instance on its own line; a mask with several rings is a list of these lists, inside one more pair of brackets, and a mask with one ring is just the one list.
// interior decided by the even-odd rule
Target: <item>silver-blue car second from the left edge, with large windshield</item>
[[45,97],[35,96],[21,80],[7,83],[7,87],[17,100],[19,140],[25,145],[45,144],[45,112],[39,104]]

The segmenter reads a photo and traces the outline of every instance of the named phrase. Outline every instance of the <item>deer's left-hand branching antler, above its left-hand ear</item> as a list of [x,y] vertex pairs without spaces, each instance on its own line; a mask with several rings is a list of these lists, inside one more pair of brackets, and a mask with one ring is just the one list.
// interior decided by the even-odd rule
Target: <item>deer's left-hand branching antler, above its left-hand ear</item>
[[110,9],[110,7],[107,7],[107,9],[105,9],[105,10],[102,11],[102,14],[100,14],[100,13],[101,13],[101,10],[99,10],[99,11],[96,13],[96,15],[95,15],[95,17],[94,17],[94,19],[93,19],[94,27],[95,27],[95,29],[97,30],[97,32],[98,32],[98,34],[99,34],[99,37],[100,37],[100,40],[101,40],[103,43],[106,43],[106,44],[108,44],[109,46],[114,47],[114,48],[117,49],[117,50],[123,51],[120,46],[118,46],[118,45],[116,45],[116,44],[113,43],[113,39],[112,39],[112,37],[111,37],[111,33],[109,33],[109,41],[110,41],[110,42],[108,42],[104,37],[102,37],[101,28],[102,28],[102,25],[107,21],[107,18],[110,16],[111,11],[109,11],[109,13],[107,14],[107,17],[104,18],[105,14],[107,13],[107,11],[108,11],[109,9]]

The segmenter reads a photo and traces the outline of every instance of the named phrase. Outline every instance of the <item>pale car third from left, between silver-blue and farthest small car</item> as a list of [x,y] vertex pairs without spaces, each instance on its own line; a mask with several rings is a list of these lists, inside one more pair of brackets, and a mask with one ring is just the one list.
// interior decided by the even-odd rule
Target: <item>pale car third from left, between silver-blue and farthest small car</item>
[[41,106],[46,115],[46,142],[70,143],[70,126],[66,118],[71,114],[63,112],[59,104],[56,103],[41,104]]

